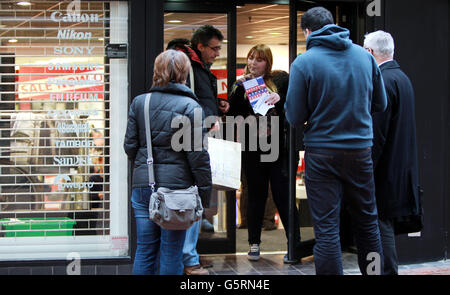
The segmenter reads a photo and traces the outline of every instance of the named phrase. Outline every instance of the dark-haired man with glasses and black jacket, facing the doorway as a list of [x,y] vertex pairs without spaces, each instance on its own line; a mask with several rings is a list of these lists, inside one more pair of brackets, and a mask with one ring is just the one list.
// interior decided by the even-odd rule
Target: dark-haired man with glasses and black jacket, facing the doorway
[[[214,116],[217,118],[219,109],[226,112],[229,108],[228,102],[217,97],[217,78],[211,73],[210,68],[214,60],[220,55],[223,41],[222,33],[211,25],[199,27],[191,38],[191,45],[185,39],[175,39],[169,42],[168,49],[183,51],[191,61],[191,71],[186,85],[190,87],[199,99],[205,118]],[[218,119],[213,126],[217,128]],[[186,240],[183,249],[183,263],[187,275],[206,275],[208,271],[201,267],[199,255],[196,251],[198,234],[201,221],[197,221],[186,231]]]

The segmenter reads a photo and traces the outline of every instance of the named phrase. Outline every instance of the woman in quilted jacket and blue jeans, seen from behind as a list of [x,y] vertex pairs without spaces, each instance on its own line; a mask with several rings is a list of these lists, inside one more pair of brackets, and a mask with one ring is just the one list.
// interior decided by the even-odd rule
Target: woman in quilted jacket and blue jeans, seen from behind
[[[199,142],[195,140],[188,147],[185,144],[181,148],[172,146],[172,137],[181,128],[189,126],[190,134],[205,136],[207,132],[201,124],[203,117],[200,124],[194,123],[194,112],[203,113],[195,94],[184,85],[189,68],[187,56],[175,50],[167,50],[155,60],[149,111],[156,182],[154,189],[184,189],[196,185],[203,207],[207,208],[212,188],[208,152],[202,146],[199,148]],[[131,203],[136,217],[137,249],[133,274],[157,274],[159,253],[159,274],[181,275],[186,231],[165,230],[149,219],[152,189],[147,169],[145,128],[148,126],[144,125],[144,112],[148,111],[144,109],[146,95],[135,97],[130,106],[124,142],[125,152],[134,161]],[[189,120],[190,124],[172,128],[172,120],[180,116]],[[195,128],[201,130],[194,131]]]

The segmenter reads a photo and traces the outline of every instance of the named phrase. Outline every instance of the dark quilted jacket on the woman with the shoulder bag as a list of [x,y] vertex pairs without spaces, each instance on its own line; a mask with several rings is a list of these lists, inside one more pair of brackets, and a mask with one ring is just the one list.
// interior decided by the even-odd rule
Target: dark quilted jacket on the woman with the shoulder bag
[[[201,122],[204,114],[195,94],[185,85],[169,83],[167,86],[155,86],[150,90],[150,122],[152,153],[156,189],[167,187],[183,189],[197,185],[202,204],[209,206],[212,189],[209,154],[202,142],[191,141],[188,151],[175,151],[172,147],[173,135],[183,125],[171,124],[175,117],[185,116],[190,121],[191,135],[206,135]],[[134,161],[133,188],[148,187],[147,143],[145,137],[144,102],[147,94],[138,95],[130,106],[124,149],[128,157]],[[196,111],[197,110],[197,111]],[[200,125],[194,124],[194,112],[200,112]],[[197,127],[198,126],[198,127]],[[201,130],[194,130],[199,128]],[[197,133],[196,133],[197,132]]]

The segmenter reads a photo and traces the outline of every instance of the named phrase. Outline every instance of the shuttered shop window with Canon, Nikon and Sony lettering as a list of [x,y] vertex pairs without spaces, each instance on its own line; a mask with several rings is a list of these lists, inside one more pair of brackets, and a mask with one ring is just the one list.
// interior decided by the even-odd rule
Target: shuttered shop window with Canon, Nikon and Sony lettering
[[128,254],[127,18],[119,1],[0,3],[0,260]]

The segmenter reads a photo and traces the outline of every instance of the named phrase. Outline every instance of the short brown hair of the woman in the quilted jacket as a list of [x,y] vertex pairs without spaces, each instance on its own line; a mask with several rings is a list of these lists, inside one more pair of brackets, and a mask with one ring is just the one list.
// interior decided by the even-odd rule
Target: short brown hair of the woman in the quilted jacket
[[166,50],[155,59],[153,85],[165,86],[169,82],[184,84],[190,67],[191,62],[186,54],[173,49]]

